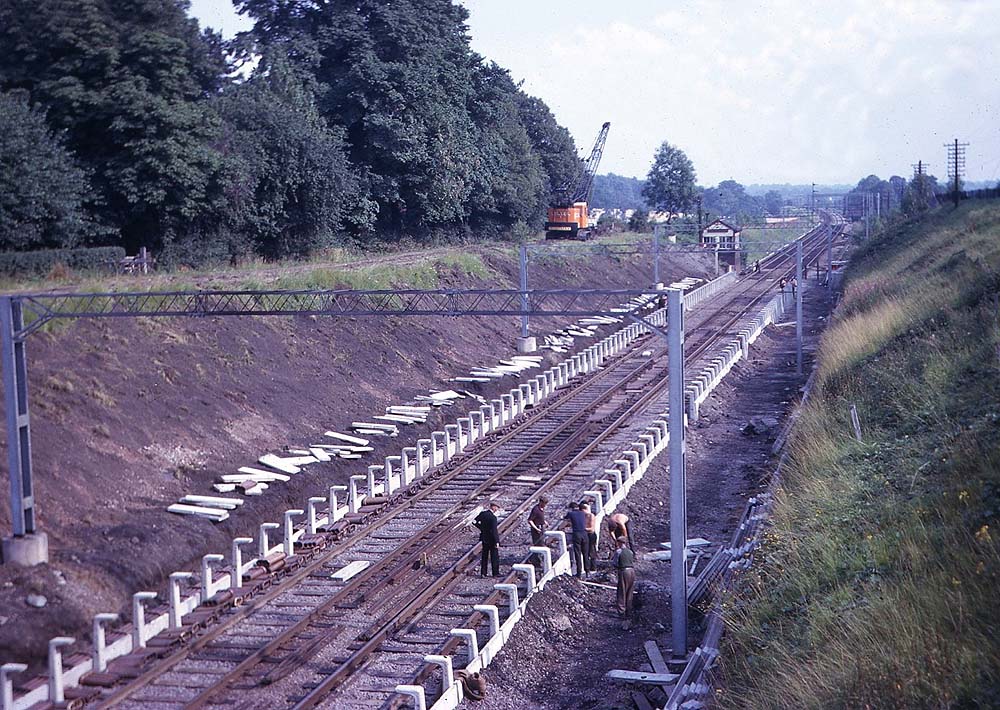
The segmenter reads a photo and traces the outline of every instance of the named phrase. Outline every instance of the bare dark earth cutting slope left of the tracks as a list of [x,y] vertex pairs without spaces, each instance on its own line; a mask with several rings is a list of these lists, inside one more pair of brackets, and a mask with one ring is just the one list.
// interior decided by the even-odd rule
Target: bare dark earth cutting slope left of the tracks
[[[707,266],[686,257],[661,264],[661,278],[706,276]],[[639,288],[649,285],[650,273],[639,257],[548,258],[533,262],[531,286]],[[253,285],[229,276],[224,284],[192,280],[205,287]],[[416,261],[248,278],[269,288],[515,288],[517,258],[511,247],[432,250]],[[164,286],[155,277],[116,285]],[[550,332],[553,323],[533,328]],[[327,429],[346,431],[388,404],[448,389],[448,378],[509,357],[517,334],[510,318],[301,317],[81,321],[32,336],[36,499],[51,561],[32,569],[0,565],[0,662],[39,668],[46,642],[57,635],[89,645],[93,614],[129,618],[133,592],[162,593],[171,572],[196,570],[201,555],[225,553],[233,537],[256,537],[261,522],[280,520],[308,496],[398,454],[443,420],[453,421],[460,407],[446,408],[426,426],[405,427],[368,459],[314,464],[248,498],[219,525],[167,513],[179,497],[212,493],[218,474],[235,473],[262,454],[318,443]],[[489,396],[500,387],[470,389]],[[5,534],[9,516],[7,505],[0,506]],[[44,595],[46,605],[28,606],[30,593]]]

